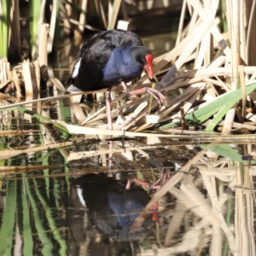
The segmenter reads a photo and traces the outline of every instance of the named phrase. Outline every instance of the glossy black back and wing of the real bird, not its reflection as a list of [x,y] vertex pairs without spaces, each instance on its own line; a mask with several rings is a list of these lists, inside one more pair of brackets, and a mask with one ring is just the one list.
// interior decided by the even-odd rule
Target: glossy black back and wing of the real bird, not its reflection
[[[141,46],[141,38],[134,32],[123,30],[110,30],[96,33],[87,40],[76,56],[76,64],[79,63],[79,76],[73,77],[73,73],[65,84],[74,84],[81,90],[96,90],[108,87],[102,82],[102,69],[107,65],[109,56],[113,49],[119,47],[125,49],[126,46]],[[76,65],[75,64],[75,65]],[[73,72],[75,67],[73,69]],[[86,88],[84,88],[86,83]]]

